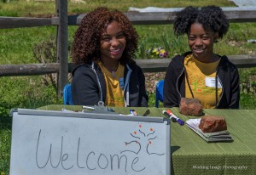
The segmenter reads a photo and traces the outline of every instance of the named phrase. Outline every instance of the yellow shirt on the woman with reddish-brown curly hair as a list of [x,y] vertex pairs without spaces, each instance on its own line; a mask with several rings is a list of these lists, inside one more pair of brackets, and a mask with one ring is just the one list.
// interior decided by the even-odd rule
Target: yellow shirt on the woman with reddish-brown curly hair
[[117,71],[109,72],[108,69],[102,64],[98,63],[102,69],[106,81],[106,100],[105,105],[124,107],[124,74],[125,66],[119,63]]

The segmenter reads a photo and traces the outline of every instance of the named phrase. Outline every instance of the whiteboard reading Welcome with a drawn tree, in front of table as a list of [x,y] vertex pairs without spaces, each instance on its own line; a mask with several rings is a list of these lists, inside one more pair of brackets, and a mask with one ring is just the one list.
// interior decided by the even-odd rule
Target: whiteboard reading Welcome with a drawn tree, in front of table
[[170,148],[160,117],[19,109],[10,174],[169,175]]

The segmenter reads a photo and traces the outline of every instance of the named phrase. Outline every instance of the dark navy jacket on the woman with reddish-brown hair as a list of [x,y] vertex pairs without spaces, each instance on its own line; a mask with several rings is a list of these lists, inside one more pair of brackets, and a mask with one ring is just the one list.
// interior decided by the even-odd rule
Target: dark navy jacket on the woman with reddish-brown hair
[[[131,70],[129,80],[125,80],[127,73]],[[72,81],[72,98],[76,105],[95,105],[98,101],[105,102],[106,82],[102,70],[96,63],[87,65],[78,65],[74,68]],[[129,82],[129,106],[147,107],[148,95],[145,88],[145,76],[142,69],[132,63],[125,65],[125,77]],[[126,90],[124,92],[126,99]]]

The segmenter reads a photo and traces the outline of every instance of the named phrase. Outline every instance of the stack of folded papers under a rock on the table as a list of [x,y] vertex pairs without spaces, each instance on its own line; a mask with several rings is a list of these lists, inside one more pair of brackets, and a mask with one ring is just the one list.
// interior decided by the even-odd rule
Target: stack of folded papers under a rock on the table
[[207,142],[218,142],[218,141],[232,141],[232,137],[228,131],[220,131],[220,132],[213,132],[213,133],[203,133],[201,129],[198,127],[201,118],[198,119],[189,119],[186,121],[186,125],[195,131],[201,138],[204,138]]

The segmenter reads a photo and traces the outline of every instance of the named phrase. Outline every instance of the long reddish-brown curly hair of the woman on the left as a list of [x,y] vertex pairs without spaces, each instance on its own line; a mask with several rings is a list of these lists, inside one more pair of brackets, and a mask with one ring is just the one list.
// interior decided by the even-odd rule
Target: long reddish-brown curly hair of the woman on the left
[[122,65],[131,63],[137,51],[137,31],[125,14],[118,10],[111,11],[105,7],[96,8],[86,14],[81,21],[74,35],[72,47],[73,63],[80,65],[101,60],[100,38],[102,33],[107,30],[108,24],[113,20],[119,23],[126,39],[126,47],[119,62]]

